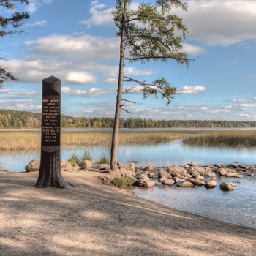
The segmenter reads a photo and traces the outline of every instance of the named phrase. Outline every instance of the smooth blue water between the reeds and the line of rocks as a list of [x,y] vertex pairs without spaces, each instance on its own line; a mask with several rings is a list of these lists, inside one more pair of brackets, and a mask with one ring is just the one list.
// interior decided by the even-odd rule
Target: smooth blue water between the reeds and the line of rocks
[[[110,147],[93,146],[87,148],[97,161],[102,156],[110,159]],[[61,159],[69,159],[73,153],[83,157],[85,148],[61,150]],[[38,151],[1,151],[0,164],[7,170],[21,172],[32,160],[39,159]],[[162,143],[154,146],[120,145],[118,146],[118,162],[136,161],[141,165],[185,165],[187,162],[197,162],[200,165],[212,163],[256,164],[256,148],[207,148],[184,146],[182,140]]]

